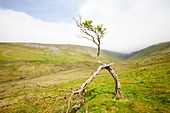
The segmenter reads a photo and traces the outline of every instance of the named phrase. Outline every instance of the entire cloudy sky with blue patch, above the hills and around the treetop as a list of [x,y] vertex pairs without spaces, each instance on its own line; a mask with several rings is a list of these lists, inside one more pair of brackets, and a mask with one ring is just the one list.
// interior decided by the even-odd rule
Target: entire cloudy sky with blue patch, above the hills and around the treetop
[[170,41],[170,0],[0,0],[0,42],[95,45],[73,17],[104,24],[102,49],[129,53]]

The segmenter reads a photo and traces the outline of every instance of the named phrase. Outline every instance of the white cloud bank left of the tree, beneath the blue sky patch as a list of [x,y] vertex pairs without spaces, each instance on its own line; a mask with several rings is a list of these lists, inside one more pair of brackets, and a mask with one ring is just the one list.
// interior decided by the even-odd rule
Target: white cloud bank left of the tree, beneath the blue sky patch
[[1,42],[40,42],[81,44],[74,24],[50,23],[35,19],[24,12],[0,9]]

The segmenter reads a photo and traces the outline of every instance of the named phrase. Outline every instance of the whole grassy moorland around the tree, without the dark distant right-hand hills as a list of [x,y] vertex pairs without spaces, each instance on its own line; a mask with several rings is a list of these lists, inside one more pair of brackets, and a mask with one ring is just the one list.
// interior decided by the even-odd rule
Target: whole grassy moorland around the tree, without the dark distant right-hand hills
[[[89,85],[86,105],[79,112],[170,112],[167,48],[129,60],[103,53],[104,61],[115,63],[125,98],[114,99],[114,80],[103,70]],[[70,90],[79,88],[99,65],[95,51],[73,45],[1,43],[0,112],[65,112]]]

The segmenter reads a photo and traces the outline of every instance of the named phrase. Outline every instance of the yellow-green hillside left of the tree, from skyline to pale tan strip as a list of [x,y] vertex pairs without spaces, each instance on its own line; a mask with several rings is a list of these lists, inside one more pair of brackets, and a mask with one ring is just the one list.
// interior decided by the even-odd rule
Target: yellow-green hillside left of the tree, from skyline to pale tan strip
[[[96,49],[73,45],[0,44],[0,83],[97,65]],[[102,54],[110,62],[111,57]]]

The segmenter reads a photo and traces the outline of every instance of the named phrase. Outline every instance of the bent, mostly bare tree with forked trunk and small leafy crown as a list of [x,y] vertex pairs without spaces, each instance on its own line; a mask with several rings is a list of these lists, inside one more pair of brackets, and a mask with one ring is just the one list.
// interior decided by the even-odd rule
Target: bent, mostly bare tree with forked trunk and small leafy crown
[[[92,20],[85,20],[84,22],[82,22],[81,17],[79,16],[79,19],[75,19],[76,25],[78,26],[78,28],[81,30],[82,38],[85,38],[87,40],[92,41],[96,46],[97,46],[97,55],[96,55],[96,60],[101,64],[99,65],[99,67],[97,68],[96,72],[94,72],[92,74],[92,76],[86,80],[86,82],[84,82],[80,88],[76,91],[73,91],[68,99],[68,108],[66,113],[70,112],[70,106],[71,106],[71,100],[73,95],[78,94],[80,98],[82,98],[85,102],[85,98],[84,98],[84,93],[85,93],[85,89],[88,87],[88,85],[95,79],[95,77],[99,74],[99,72],[102,69],[106,69],[108,70],[108,72],[112,75],[112,77],[115,80],[115,98],[120,98],[120,97],[124,97],[122,92],[121,92],[121,85],[120,85],[120,81],[118,78],[117,73],[111,68],[111,66],[113,65],[113,63],[110,64],[106,64],[104,62],[102,62],[99,59],[100,56],[100,52],[101,52],[101,39],[104,37],[105,35],[105,31],[106,28],[103,28],[103,25],[93,25],[93,21]],[[79,109],[81,107],[81,104],[79,104],[79,106],[77,107],[77,109]]]

